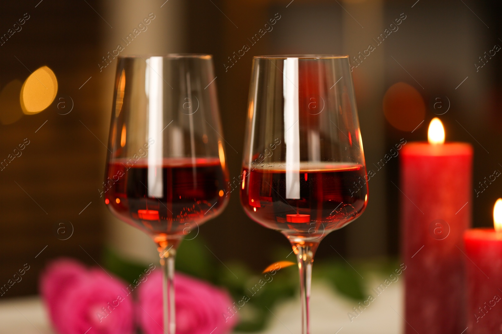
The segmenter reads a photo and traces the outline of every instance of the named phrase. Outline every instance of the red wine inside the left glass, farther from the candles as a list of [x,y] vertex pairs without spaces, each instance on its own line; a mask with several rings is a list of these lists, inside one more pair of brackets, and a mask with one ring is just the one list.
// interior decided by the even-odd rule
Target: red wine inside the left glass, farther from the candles
[[147,159],[130,161],[108,164],[104,201],[117,218],[151,234],[187,234],[228,202],[228,175],[218,158],[164,159],[150,171]]

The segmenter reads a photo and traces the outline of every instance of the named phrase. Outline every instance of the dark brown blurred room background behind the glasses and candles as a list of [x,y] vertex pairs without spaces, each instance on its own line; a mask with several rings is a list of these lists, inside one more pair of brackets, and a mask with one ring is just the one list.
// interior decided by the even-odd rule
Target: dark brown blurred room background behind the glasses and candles
[[[0,161],[8,161],[0,168],[0,283],[31,267],[2,297],[35,294],[40,270],[61,255],[91,265],[117,256],[158,261],[153,242],[113,218],[100,198],[117,45],[120,55],[214,55],[230,178],[240,173],[252,57],[350,55],[366,164],[376,175],[366,212],[329,234],[316,257],[392,259],[400,249],[399,156],[378,163],[396,144],[426,140],[441,115],[447,140],[474,147],[473,187],[502,170],[500,15],[494,0],[2,2]],[[147,17],[147,29],[125,43]],[[235,57],[244,45],[250,50]],[[24,114],[21,85],[43,66],[57,79],[55,99]],[[491,225],[501,193],[498,179],[473,191],[475,226]],[[290,252],[284,236],[245,216],[235,192],[193,240],[222,263],[257,273]]]

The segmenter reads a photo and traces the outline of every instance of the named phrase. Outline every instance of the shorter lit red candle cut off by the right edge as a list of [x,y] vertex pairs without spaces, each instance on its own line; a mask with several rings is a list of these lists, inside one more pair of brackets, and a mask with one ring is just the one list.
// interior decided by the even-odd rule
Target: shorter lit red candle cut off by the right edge
[[467,332],[502,333],[502,199],[493,208],[492,228],[465,231]]

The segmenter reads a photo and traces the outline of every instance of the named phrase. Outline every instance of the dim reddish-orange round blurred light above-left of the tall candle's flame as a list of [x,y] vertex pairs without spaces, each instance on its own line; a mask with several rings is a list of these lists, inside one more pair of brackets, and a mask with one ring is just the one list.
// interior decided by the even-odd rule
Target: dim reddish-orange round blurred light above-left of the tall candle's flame
[[413,131],[425,117],[425,103],[420,93],[404,82],[389,87],[384,96],[385,118],[401,131]]

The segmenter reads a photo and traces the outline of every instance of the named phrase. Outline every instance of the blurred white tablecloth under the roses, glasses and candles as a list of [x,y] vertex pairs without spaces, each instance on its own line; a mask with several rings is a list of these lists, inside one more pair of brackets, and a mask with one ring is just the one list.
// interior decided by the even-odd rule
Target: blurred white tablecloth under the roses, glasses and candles
[[[383,283],[382,277],[365,278],[368,291]],[[402,280],[391,283],[380,295],[370,291],[369,306],[341,297],[323,283],[312,286],[311,326],[315,334],[400,334],[403,328]],[[367,303],[366,303],[367,304]],[[273,309],[270,326],[263,334],[300,332],[300,300],[291,299]],[[348,312],[351,312],[352,321]],[[354,317],[355,316],[355,317]],[[0,334],[54,334],[38,296],[0,299]]]

